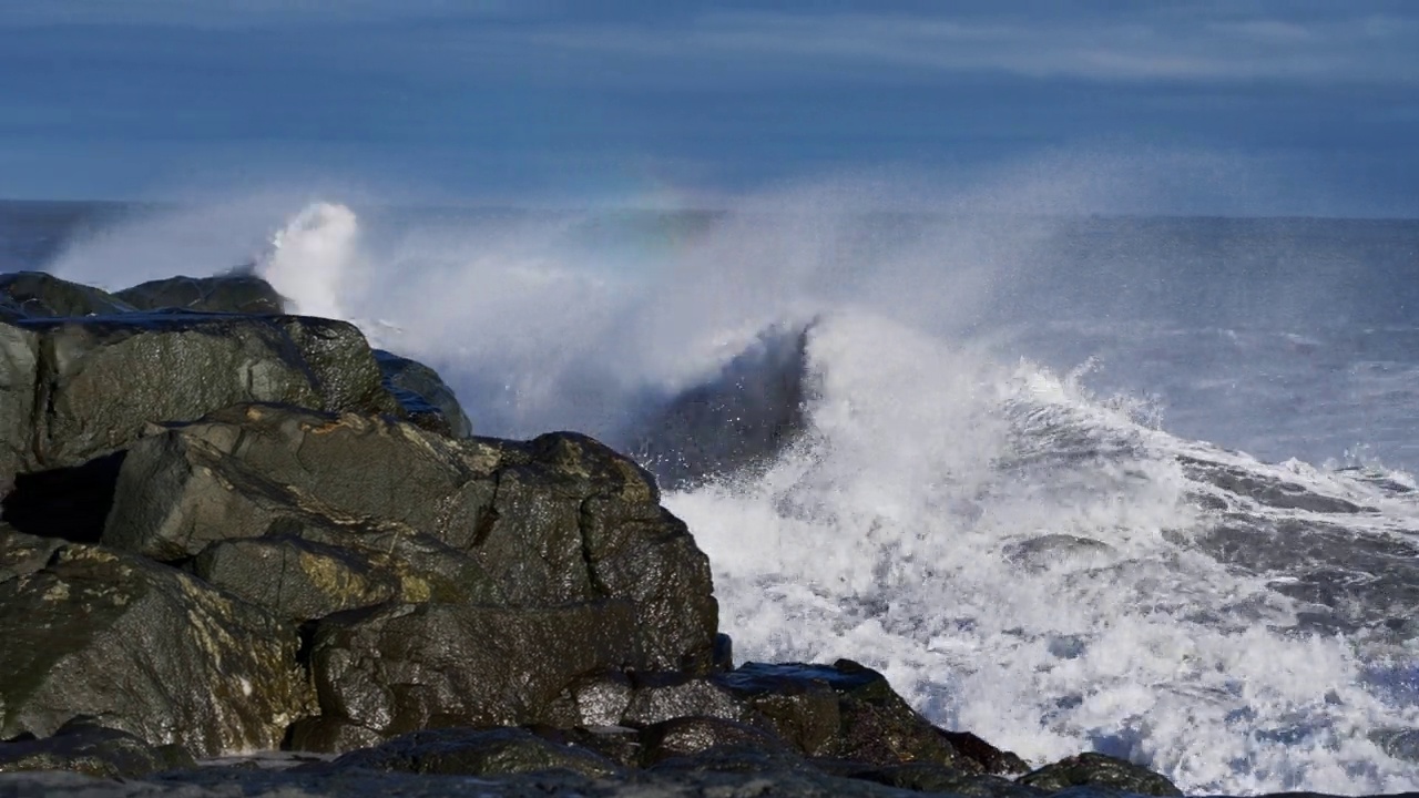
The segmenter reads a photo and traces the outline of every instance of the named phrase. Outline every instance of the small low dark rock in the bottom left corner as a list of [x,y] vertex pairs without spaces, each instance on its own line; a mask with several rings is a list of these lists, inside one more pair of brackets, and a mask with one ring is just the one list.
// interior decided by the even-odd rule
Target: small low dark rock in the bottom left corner
[[140,778],[196,765],[180,745],[149,745],[85,717],[65,723],[53,737],[0,743],[0,772],[64,770],[101,778]]

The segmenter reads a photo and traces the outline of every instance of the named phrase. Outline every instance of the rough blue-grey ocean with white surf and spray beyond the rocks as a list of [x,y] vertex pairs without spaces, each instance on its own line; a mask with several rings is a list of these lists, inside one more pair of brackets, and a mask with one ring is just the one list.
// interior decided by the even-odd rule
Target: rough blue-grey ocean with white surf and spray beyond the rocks
[[1419,222],[0,204],[4,268],[241,264],[440,369],[480,434],[627,446],[807,329],[802,434],[664,497],[738,660],[856,659],[1189,794],[1419,789]]

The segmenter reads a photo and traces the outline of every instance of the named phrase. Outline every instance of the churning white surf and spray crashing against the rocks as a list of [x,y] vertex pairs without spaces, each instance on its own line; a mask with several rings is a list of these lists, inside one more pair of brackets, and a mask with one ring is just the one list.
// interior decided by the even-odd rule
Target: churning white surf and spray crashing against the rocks
[[[1276,467],[1175,439],[1144,423],[1147,405],[1100,400],[972,332],[1002,280],[1027,278],[1030,229],[898,244],[837,222],[729,219],[626,274],[535,223],[373,253],[353,213],[318,204],[258,273],[299,311],[440,368],[499,434],[609,433],[639,392],[823,312],[807,439],[752,481],[666,498],[710,554],[741,660],[857,659],[932,720],[1033,763],[1097,748],[1189,792],[1419,787],[1419,767],[1366,738],[1419,726],[1365,687],[1375,663],[1342,638],[1273,630],[1293,602],[1189,545],[1210,518],[1172,454]],[[1409,528],[1410,507],[1386,511]],[[1094,544],[1022,551],[1044,535]]]

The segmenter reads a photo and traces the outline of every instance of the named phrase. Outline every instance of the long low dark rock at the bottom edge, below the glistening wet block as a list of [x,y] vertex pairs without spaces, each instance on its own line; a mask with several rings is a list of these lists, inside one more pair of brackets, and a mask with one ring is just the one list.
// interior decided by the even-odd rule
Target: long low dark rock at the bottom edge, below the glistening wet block
[[595,751],[558,744],[525,728],[436,728],[350,751],[328,765],[447,775],[508,775],[568,770],[590,778],[622,768]]

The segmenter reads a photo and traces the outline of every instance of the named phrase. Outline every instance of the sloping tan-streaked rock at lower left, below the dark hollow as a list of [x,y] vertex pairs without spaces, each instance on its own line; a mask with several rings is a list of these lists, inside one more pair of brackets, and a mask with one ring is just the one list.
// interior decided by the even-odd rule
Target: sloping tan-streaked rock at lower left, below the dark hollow
[[314,710],[295,626],[261,609],[99,547],[24,571],[0,582],[0,737],[88,714],[214,755],[274,748]]

